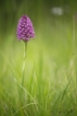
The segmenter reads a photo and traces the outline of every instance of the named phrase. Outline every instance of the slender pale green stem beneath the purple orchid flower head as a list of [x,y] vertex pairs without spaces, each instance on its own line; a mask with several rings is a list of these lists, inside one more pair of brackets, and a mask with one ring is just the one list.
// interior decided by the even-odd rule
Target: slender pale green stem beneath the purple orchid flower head
[[27,42],[24,43],[24,60],[23,60],[23,67],[22,67],[22,86],[24,86],[26,48],[27,48]]

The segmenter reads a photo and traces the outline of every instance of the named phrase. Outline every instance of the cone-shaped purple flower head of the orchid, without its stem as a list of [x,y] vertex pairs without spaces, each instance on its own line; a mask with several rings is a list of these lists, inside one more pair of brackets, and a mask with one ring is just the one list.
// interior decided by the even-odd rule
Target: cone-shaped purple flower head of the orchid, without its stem
[[18,40],[29,40],[31,37],[35,37],[33,22],[27,15],[23,15],[17,24],[17,38]]

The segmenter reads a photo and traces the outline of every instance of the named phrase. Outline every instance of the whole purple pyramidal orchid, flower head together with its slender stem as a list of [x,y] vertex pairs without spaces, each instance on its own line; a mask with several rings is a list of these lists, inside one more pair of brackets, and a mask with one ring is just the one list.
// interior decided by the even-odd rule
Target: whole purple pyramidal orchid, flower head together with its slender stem
[[22,68],[22,85],[24,84],[24,70],[25,70],[25,59],[26,59],[26,48],[27,48],[27,42],[33,37],[35,37],[35,31],[33,26],[33,22],[27,15],[23,15],[17,24],[17,39],[24,40],[24,61],[23,61],[23,68]]

